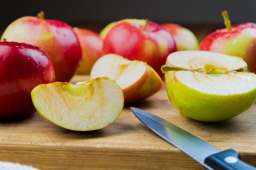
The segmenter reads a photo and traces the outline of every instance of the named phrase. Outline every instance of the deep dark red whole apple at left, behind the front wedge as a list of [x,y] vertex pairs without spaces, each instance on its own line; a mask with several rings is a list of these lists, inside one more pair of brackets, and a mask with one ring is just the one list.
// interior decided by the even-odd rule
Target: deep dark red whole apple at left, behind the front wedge
[[0,120],[36,112],[31,91],[54,82],[54,65],[42,49],[18,42],[0,42]]

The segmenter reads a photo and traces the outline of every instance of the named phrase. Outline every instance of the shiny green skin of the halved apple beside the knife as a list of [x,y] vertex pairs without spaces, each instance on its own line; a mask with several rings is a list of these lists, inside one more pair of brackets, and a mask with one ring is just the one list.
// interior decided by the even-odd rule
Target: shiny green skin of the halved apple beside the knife
[[189,88],[177,81],[175,76],[167,87],[168,97],[180,114],[199,121],[218,122],[231,119],[250,108],[256,101],[256,89],[237,95],[211,95]]

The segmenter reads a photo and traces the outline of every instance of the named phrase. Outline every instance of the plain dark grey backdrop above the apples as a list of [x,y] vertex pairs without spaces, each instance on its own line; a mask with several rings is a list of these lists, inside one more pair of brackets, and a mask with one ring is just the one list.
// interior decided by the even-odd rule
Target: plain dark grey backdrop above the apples
[[4,0],[0,29],[26,15],[77,23],[111,22],[124,18],[178,24],[223,24],[227,10],[231,23],[256,22],[256,0]]

